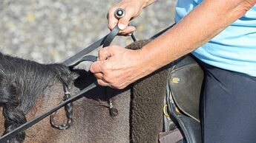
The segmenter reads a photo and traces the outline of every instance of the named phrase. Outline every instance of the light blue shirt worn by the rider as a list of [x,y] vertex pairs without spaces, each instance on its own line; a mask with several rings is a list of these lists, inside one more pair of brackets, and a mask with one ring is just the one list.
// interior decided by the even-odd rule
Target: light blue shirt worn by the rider
[[[175,21],[179,22],[202,1],[179,0]],[[256,77],[256,5],[192,54],[209,65]]]

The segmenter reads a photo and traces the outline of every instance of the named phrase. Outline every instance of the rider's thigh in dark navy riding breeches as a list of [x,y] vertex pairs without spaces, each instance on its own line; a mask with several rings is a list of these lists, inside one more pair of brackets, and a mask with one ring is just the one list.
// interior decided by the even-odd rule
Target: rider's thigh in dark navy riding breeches
[[205,143],[256,142],[256,77],[203,64]]

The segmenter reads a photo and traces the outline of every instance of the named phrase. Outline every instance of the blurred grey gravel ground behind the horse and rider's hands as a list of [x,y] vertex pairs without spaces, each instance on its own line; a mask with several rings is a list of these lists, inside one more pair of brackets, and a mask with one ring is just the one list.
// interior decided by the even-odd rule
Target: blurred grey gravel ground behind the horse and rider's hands
[[[61,62],[107,35],[106,14],[116,0],[0,0],[0,52]],[[174,23],[175,0],[159,0],[131,21],[137,39],[150,38]],[[114,43],[125,46],[130,38]]]

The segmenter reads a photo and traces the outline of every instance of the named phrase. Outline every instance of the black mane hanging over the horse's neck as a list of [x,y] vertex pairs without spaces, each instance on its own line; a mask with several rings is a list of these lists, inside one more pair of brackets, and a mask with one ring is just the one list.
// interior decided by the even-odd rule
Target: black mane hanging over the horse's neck
[[[45,88],[54,83],[72,86],[76,74],[62,64],[41,64],[0,53],[0,105],[4,114],[4,134],[27,122],[25,115]],[[25,132],[9,142],[23,142]]]

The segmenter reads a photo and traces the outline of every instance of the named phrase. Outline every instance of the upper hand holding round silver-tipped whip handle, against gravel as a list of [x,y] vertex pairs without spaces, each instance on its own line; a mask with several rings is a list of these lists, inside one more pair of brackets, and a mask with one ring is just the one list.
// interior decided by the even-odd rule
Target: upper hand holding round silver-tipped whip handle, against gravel
[[[142,12],[143,7],[146,6],[146,0],[122,0],[114,5],[108,11],[108,28],[114,29],[116,24],[120,29],[119,35],[131,35],[136,30],[135,27],[128,26],[132,18],[136,18]],[[122,8],[125,10],[125,16],[116,18],[114,13],[116,9]]]

